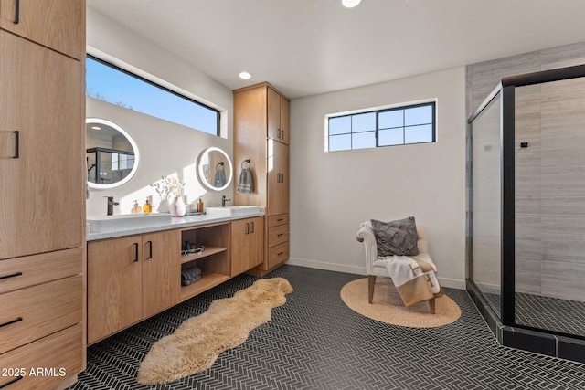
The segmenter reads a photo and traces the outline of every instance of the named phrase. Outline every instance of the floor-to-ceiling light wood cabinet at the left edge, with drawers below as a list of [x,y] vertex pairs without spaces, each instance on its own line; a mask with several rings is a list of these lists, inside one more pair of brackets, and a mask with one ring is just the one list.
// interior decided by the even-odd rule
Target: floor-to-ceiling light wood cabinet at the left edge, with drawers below
[[0,367],[24,370],[0,387],[50,389],[85,368],[85,2],[17,3],[0,0]]

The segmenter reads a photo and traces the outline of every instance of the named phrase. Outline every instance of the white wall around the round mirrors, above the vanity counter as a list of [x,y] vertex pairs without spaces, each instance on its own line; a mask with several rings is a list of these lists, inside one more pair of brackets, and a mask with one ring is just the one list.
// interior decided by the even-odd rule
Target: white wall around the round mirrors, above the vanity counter
[[[90,54],[112,61],[115,65],[130,64],[165,80],[170,84],[166,86],[178,87],[187,96],[218,109],[222,118],[222,137],[216,137],[88,98],[86,116],[106,119],[122,126],[137,143],[141,162],[127,184],[112,190],[90,190],[87,215],[105,215],[106,199],[103,196],[106,195],[114,196],[120,202],[120,206],[114,209],[116,214],[129,213],[134,199],[142,206],[147,195],[155,195],[150,184],[160,180],[163,174],[177,174],[186,182],[185,194],[189,202],[201,196],[206,206],[217,206],[221,203],[221,195],[233,195],[233,185],[220,193],[207,192],[196,176],[197,157],[205,148],[217,146],[233,156],[231,90],[91,8],[87,10],[87,44]],[[133,70],[138,71],[136,69]]]

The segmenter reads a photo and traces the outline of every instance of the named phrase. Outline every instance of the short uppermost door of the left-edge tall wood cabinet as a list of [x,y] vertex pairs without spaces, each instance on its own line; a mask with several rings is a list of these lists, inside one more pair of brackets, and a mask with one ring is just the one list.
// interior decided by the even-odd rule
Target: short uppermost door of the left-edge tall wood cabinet
[[[0,0],[0,28],[72,58],[85,58],[84,0]],[[17,22],[17,23],[16,23]]]

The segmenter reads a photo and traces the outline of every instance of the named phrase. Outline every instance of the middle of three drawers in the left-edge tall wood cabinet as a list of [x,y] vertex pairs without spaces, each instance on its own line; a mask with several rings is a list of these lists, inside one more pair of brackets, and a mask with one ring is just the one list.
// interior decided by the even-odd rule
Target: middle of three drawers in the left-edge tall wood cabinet
[[0,295],[0,353],[81,322],[82,297],[80,276]]

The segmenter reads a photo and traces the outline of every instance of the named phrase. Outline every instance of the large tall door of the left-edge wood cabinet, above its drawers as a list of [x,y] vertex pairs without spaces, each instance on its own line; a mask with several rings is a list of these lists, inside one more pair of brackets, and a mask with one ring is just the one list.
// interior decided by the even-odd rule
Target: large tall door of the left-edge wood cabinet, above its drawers
[[0,69],[0,258],[81,247],[83,63],[0,30]]

